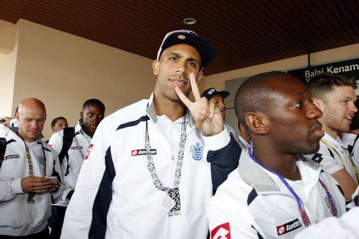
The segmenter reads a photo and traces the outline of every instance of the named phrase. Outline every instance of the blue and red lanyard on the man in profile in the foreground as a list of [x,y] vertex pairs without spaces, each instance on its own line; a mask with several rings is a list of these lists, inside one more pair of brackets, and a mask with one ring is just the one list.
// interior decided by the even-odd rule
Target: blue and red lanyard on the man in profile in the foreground
[[[264,165],[262,165],[262,163],[260,163],[257,158],[255,158],[255,156],[252,154],[252,148],[248,149],[248,153],[250,153],[250,157],[252,158],[253,161],[255,161],[255,163],[257,163],[258,165],[260,165],[262,168],[268,170],[269,172],[273,173],[274,175],[277,175],[277,177],[279,177],[280,181],[283,182],[283,184],[287,187],[287,189],[290,191],[290,193],[292,193],[292,196],[294,196],[295,200],[297,201],[297,205],[299,208],[299,213],[300,216],[302,217],[302,220],[304,222],[304,225],[306,227],[311,226],[311,221],[309,220],[308,214],[306,214],[306,210],[304,209],[304,204],[302,199],[299,198],[299,196],[297,195],[297,193],[295,193],[295,191],[292,189],[292,187],[288,184],[287,180],[285,180],[285,178],[278,174],[278,172],[274,172],[273,170],[270,170],[269,168],[264,167]],[[327,194],[327,198],[329,201],[329,207],[330,207],[330,212],[332,213],[332,215],[334,217],[337,216],[337,207],[335,207],[334,205],[334,201],[332,196],[330,195],[329,190],[327,189],[327,186],[324,184],[324,182],[320,179],[318,179],[319,183],[321,186],[323,186],[323,189],[325,191],[325,193]]]

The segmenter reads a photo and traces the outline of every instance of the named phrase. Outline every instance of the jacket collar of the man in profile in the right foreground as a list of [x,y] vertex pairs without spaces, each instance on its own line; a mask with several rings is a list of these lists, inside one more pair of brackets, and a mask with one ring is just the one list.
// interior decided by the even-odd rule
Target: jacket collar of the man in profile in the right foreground
[[[316,184],[320,175],[320,165],[310,163],[302,156],[297,156],[297,166],[301,172],[302,180]],[[257,192],[281,191],[280,179],[250,158],[248,149],[243,149],[238,165],[238,173],[249,186],[254,186]]]

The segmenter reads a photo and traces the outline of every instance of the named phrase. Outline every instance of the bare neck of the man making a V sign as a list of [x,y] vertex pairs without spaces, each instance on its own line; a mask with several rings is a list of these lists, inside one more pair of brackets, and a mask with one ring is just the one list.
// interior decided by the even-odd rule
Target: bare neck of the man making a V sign
[[175,102],[168,100],[165,97],[154,94],[154,109],[158,116],[163,114],[167,116],[172,122],[184,116],[186,106],[182,102]]

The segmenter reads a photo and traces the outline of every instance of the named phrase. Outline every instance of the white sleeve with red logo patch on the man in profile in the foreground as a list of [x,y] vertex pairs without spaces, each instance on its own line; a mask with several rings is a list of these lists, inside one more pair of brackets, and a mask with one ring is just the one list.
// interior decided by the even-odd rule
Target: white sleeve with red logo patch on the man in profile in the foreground
[[246,205],[231,206],[231,198],[220,196],[210,200],[208,205],[208,221],[210,238],[265,238],[262,230],[255,224]]

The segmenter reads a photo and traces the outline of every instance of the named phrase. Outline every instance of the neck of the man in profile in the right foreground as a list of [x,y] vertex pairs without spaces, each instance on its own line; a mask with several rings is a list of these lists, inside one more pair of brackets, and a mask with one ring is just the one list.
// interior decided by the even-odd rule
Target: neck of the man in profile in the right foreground
[[[262,146],[266,145],[266,146]],[[297,155],[292,153],[283,153],[271,147],[268,144],[253,144],[253,155],[264,167],[277,172],[286,179],[300,180],[300,172],[297,168]]]

